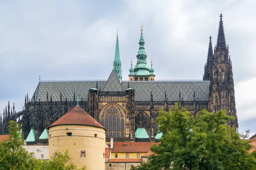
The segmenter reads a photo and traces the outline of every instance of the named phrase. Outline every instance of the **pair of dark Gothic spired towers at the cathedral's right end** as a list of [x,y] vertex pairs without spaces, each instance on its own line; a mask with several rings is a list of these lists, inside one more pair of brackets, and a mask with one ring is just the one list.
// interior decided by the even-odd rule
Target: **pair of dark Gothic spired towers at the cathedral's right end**
[[[226,45],[222,17],[222,14],[220,14],[218,38],[214,48],[214,55],[211,57],[209,55],[210,49],[208,51],[204,80],[210,80],[209,110],[214,112],[226,110],[228,116],[233,115],[235,117],[228,124],[238,128],[232,62],[228,45]],[[209,48],[210,45],[211,37]]]

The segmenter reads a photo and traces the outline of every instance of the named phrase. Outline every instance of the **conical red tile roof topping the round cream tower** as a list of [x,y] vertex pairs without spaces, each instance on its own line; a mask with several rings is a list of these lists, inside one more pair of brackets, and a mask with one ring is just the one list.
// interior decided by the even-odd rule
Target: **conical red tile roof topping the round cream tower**
[[105,129],[102,125],[99,124],[92,116],[86,113],[80,106],[75,106],[69,112],[64,114],[60,119],[52,123],[49,127],[57,125],[88,125],[101,127]]

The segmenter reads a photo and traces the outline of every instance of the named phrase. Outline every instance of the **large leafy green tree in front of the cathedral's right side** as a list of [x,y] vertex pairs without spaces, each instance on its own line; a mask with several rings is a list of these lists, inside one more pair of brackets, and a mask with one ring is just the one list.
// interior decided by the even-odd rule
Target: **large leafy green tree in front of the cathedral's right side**
[[235,128],[227,126],[233,116],[226,111],[200,111],[196,119],[189,111],[178,108],[160,111],[156,121],[164,135],[153,145],[147,163],[133,170],[255,170],[253,147]]

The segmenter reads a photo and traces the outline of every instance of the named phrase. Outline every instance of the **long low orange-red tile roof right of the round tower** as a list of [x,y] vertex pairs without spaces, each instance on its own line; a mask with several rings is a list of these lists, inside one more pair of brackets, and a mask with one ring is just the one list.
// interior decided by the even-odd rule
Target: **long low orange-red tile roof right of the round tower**
[[113,149],[111,152],[147,153],[153,144],[159,144],[159,142],[113,142]]

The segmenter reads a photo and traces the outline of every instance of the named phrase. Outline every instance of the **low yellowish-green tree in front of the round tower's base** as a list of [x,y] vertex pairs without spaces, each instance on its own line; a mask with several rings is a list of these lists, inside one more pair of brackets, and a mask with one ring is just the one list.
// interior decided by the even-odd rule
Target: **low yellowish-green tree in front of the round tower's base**
[[[59,151],[56,156],[50,157],[49,161],[38,161],[35,170],[77,170],[76,164],[70,162],[71,156],[68,150]],[[79,170],[86,170],[86,166]]]

